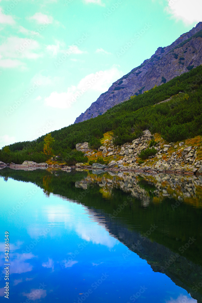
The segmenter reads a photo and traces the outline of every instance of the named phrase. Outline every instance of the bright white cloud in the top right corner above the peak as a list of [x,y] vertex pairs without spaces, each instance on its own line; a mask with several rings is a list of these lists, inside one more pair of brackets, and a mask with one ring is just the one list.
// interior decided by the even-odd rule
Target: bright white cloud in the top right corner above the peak
[[186,25],[202,21],[202,1],[198,0],[166,0],[165,10],[177,20],[182,20]]

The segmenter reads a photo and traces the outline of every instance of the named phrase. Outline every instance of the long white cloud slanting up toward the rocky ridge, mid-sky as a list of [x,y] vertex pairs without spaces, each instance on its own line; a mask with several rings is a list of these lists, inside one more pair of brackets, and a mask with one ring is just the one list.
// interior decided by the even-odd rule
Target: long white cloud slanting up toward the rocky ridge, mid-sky
[[67,92],[52,92],[45,98],[45,103],[51,107],[70,108],[71,105],[87,91],[106,92],[114,81],[120,78],[120,72],[116,66],[95,74],[87,75],[81,79],[77,86],[71,86]]

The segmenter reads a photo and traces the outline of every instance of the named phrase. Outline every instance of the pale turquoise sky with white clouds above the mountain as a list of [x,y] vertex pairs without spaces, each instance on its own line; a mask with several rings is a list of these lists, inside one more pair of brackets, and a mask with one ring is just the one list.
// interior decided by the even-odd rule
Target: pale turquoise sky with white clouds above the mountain
[[0,0],[0,148],[73,124],[201,11],[201,0]]

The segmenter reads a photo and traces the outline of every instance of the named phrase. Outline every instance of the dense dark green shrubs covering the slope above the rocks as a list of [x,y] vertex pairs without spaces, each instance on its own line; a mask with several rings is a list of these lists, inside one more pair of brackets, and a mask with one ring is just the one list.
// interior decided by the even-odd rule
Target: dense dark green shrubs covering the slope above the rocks
[[[100,139],[108,131],[114,132],[114,144],[119,145],[138,138],[144,129],[158,132],[164,140],[173,142],[201,135],[202,66],[193,67],[187,67],[190,72],[155,86],[145,94],[133,96],[103,115],[51,132],[54,138],[52,155],[68,159],[69,164],[77,160],[86,162],[81,160],[83,155],[78,154],[75,145],[89,142],[90,146],[98,148]],[[179,92],[183,93],[178,95]],[[171,96],[169,102],[157,104]],[[2,148],[0,160],[17,164],[25,160],[45,162],[49,156],[44,153],[44,138],[41,136],[31,142],[18,142]]]

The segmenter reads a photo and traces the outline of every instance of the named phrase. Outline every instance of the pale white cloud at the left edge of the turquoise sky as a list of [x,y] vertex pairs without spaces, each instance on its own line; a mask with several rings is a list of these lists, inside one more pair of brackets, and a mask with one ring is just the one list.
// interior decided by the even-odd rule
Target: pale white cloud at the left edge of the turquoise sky
[[39,50],[37,41],[19,37],[9,37],[0,45],[0,53],[4,58],[37,59],[41,57],[41,54],[36,52]]

